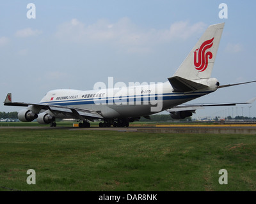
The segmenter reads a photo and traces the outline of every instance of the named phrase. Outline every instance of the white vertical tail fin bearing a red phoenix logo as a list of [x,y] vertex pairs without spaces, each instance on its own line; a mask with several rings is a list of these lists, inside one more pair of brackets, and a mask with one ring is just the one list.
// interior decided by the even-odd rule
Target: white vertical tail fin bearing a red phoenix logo
[[210,78],[225,23],[210,25],[173,77],[188,80]]

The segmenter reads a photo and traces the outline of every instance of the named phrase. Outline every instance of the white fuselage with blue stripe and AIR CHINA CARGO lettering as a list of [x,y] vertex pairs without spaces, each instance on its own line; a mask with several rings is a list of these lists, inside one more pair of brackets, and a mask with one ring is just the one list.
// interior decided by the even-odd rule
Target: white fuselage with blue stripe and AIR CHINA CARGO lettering
[[[47,92],[40,103],[84,108],[100,113],[105,119],[140,117],[186,103],[217,89],[216,78],[196,82],[207,85],[207,89],[188,93],[173,92],[169,82],[91,91],[57,89]],[[68,118],[68,115],[59,114],[56,117]],[[70,118],[73,117],[70,115]]]

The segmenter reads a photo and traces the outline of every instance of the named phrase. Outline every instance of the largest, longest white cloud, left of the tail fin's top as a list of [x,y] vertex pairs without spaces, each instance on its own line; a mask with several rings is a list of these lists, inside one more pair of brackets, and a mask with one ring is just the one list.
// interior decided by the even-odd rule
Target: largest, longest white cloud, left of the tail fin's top
[[58,40],[72,43],[111,43],[125,47],[128,52],[150,52],[152,45],[187,40],[193,34],[202,33],[203,22],[190,24],[189,21],[175,22],[168,29],[143,29],[133,24],[127,17],[117,22],[100,19],[95,24],[86,25],[73,18],[58,26],[55,36]]

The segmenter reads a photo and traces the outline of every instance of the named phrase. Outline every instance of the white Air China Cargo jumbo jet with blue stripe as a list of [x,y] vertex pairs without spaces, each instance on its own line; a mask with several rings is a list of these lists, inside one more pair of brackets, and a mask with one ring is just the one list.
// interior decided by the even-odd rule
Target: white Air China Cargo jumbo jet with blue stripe
[[26,107],[18,113],[19,120],[23,122],[36,119],[40,124],[55,127],[56,119],[77,119],[81,121],[80,128],[90,128],[88,121],[101,120],[99,127],[128,127],[130,122],[140,117],[150,119],[150,115],[164,110],[170,112],[173,119],[184,119],[204,106],[239,104],[182,105],[223,87],[256,82],[220,85],[216,78],[211,78],[224,25],[209,25],[166,82],[109,89],[100,87],[91,91],[56,89],[47,92],[40,103],[12,102],[12,94],[9,93],[4,105]]

